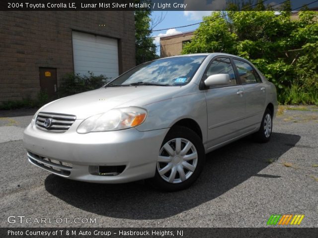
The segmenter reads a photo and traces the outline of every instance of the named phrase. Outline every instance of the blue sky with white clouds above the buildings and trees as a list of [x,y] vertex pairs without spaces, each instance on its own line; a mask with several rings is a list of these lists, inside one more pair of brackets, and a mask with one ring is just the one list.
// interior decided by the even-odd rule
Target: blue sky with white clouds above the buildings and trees
[[[209,4],[209,0],[195,0],[197,4]],[[211,0],[210,0],[211,1]],[[212,2],[218,0],[212,0]],[[299,7],[303,4],[313,2],[314,0],[292,0],[292,9]],[[282,2],[282,0],[266,0],[265,4],[275,5],[277,2]],[[309,7],[317,6],[317,2],[309,5]],[[297,9],[298,10],[298,9]],[[193,31],[199,27],[199,24],[183,28],[175,28],[177,26],[184,26],[202,21],[203,16],[208,16],[212,11],[153,11],[151,18],[153,22],[158,21],[158,19],[163,18],[163,20],[154,28],[165,29],[171,28],[163,31],[154,31],[152,37],[154,37],[154,43],[157,47],[157,54],[160,55],[160,39],[159,36],[173,35],[177,33]],[[155,38],[156,37],[156,38]]]

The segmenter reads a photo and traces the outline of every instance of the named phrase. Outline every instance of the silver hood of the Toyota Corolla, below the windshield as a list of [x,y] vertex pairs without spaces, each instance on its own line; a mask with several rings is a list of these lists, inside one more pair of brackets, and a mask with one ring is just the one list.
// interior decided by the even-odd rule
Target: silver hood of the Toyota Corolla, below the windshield
[[142,107],[157,100],[164,100],[174,95],[180,88],[144,85],[100,88],[58,99],[46,105],[41,111],[70,114],[75,115],[77,119],[86,119],[113,108]]

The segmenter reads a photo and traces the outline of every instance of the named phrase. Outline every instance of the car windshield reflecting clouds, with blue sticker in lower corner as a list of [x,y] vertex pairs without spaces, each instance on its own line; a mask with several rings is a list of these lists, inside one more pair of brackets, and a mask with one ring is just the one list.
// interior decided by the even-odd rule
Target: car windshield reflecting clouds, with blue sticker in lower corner
[[201,65],[206,56],[184,56],[154,60],[143,63],[117,77],[106,85],[185,85]]

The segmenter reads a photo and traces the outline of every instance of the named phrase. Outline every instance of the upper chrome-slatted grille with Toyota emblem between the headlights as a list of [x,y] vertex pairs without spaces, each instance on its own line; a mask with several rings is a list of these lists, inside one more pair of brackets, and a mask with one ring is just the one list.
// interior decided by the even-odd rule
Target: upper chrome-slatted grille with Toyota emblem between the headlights
[[[47,119],[48,123],[45,123]],[[38,113],[35,124],[41,130],[63,133],[71,127],[75,119],[74,115],[41,112]]]

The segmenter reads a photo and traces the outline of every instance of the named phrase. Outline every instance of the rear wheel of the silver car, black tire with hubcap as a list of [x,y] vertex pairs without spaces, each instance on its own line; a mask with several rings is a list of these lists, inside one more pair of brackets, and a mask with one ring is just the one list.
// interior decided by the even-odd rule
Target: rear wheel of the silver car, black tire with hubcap
[[273,129],[273,119],[271,111],[266,108],[259,130],[254,134],[254,138],[259,143],[266,143],[270,140]]

